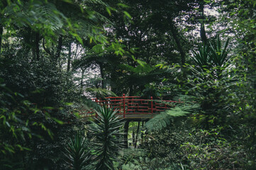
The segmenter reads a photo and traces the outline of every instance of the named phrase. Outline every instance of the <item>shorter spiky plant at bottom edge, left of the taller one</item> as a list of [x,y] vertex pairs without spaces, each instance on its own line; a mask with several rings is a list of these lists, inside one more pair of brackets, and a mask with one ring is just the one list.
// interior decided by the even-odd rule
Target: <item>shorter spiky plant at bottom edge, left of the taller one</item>
[[87,142],[78,132],[74,139],[70,139],[65,147],[65,162],[74,170],[90,169],[87,164],[90,158],[90,151],[87,149]]

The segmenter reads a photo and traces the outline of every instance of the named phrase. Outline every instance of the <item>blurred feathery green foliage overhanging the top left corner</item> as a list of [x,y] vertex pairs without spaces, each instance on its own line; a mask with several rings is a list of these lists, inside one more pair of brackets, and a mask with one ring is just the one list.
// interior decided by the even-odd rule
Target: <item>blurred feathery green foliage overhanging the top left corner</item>
[[[1,23],[7,30],[16,27],[30,27],[37,32],[40,30],[41,35],[49,38],[69,33],[79,42],[82,42],[82,38],[106,42],[103,26],[111,22],[91,8],[93,4],[100,4],[102,8],[106,7],[106,4],[100,0],[83,2],[73,0],[14,1],[2,10],[4,18],[1,18]],[[59,10],[60,8],[61,10]],[[65,9],[68,9],[69,12],[67,13]]]

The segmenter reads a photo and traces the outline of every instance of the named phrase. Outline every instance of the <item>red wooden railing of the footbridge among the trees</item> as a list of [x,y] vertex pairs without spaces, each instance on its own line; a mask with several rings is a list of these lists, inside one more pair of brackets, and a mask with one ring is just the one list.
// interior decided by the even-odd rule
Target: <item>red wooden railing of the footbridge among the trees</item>
[[[126,115],[153,115],[172,108],[174,106],[173,103],[180,103],[180,101],[163,101],[152,97],[145,99],[140,96],[125,96],[125,94],[118,97],[107,97],[104,100],[99,98],[93,98],[92,100],[99,103],[100,106],[114,108],[117,111],[116,115],[120,115],[123,118],[126,118]],[[97,118],[97,113],[93,109],[84,111],[80,115],[82,117]]]

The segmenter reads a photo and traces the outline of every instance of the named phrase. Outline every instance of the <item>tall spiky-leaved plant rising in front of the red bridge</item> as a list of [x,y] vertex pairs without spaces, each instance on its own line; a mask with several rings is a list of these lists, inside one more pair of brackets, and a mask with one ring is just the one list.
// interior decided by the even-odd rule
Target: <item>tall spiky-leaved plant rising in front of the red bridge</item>
[[96,169],[113,169],[113,160],[116,160],[118,150],[121,148],[121,123],[116,117],[113,108],[100,108],[97,112],[99,118],[91,122],[90,131],[95,137]]

